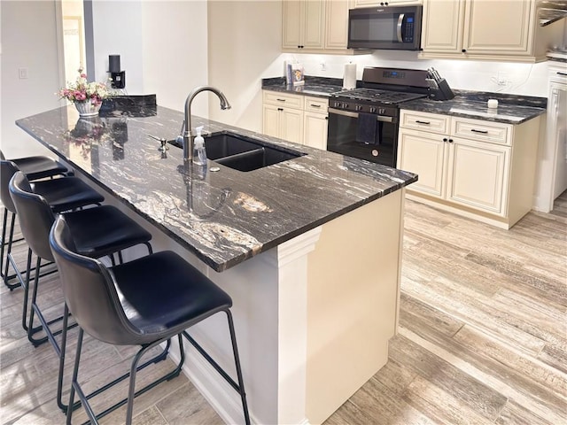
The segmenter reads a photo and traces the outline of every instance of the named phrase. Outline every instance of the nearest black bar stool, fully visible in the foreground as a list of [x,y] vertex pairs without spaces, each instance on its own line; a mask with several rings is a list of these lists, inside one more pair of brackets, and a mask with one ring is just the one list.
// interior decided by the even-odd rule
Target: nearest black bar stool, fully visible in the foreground
[[[245,423],[249,424],[229,295],[172,251],[161,251],[119,266],[105,267],[97,259],[77,253],[73,239],[66,216],[59,216],[51,228],[51,251],[61,273],[66,305],[79,324],[69,405],[73,405],[76,391],[90,422],[96,424],[97,419],[105,413],[127,404],[126,424],[130,425],[134,398],[180,374],[184,361],[182,336],[186,333],[185,329],[215,313],[224,312],[229,321],[238,383],[208,355],[205,358],[240,394]],[[98,415],[92,411],[78,382],[83,332],[108,344],[141,345],[130,368],[128,398]],[[179,340],[181,354],[178,366],[157,381],[135,391],[138,361],[152,347],[174,336]],[[71,423],[72,415],[73,409],[68,409],[67,424]]]

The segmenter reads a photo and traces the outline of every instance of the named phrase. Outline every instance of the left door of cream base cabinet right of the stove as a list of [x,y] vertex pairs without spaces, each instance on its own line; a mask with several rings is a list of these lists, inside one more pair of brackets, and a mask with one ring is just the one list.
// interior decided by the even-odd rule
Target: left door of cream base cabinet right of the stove
[[397,167],[418,174],[408,189],[431,197],[445,195],[447,142],[444,135],[400,128]]

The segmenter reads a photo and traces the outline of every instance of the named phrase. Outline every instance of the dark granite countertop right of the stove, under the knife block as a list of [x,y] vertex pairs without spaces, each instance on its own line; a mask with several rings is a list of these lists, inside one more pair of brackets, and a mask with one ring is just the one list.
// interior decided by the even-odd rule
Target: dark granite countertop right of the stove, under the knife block
[[[456,91],[456,90],[455,90]],[[498,108],[488,108],[488,98],[498,99]],[[536,104],[537,106],[534,106]],[[400,104],[400,109],[453,115],[506,124],[521,124],[546,112],[547,99],[517,96],[494,96],[480,92],[458,93],[451,100],[416,99]]]

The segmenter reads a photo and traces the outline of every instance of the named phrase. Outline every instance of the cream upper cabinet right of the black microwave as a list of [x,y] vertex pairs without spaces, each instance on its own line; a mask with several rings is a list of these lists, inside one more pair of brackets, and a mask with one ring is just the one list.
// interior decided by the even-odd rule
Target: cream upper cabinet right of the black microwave
[[420,58],[537,62],[562,35],[538,25],[535,0],[423,0]]

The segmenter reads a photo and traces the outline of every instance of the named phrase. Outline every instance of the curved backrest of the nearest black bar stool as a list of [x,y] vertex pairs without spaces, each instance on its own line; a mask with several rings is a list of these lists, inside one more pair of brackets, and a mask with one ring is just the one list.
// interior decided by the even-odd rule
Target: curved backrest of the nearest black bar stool
[[140,344],[143,335],[128,321],[112,274],[97,259],[74,251],[64,215],[51,228],[50,246],[67,306],[79,326],[108,344]]

